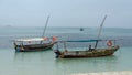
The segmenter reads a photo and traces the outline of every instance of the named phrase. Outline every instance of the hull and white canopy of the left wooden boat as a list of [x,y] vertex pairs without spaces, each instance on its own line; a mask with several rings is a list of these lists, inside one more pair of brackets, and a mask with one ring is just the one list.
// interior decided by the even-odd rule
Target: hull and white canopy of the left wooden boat
[[[54,38],[53,38],[54,39]],[[47,38],[19,39],[14,40],[16,52],[45,51],[53,47],[55,41],[46,41]]]

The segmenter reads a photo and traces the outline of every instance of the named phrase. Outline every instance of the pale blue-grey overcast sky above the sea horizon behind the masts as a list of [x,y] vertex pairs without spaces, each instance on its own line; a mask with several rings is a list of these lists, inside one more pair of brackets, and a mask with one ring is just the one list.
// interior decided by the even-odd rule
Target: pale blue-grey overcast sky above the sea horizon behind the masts
[[132,0],[0,0],[0,25],[132,28]]

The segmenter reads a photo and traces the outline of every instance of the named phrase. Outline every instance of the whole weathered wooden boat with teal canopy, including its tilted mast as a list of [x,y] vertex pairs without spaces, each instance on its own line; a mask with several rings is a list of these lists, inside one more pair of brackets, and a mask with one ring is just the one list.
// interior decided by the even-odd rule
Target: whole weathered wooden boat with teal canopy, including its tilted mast
[[[105,17],[101,25],[100,25],[100,31],[99,31],[99,34],[98,34],[98,39],[97,40],[68,40],[68,41],[58,41],[56,43],[57,45],[57,49],[55,50],[55,54],[56,54],[56,58],[75,58],[75,57],[100,57],[100,56],[109,56],[109,55],[112,55],[116,51],[119,50],[119,45],[116,44],[116,40],[101,40],[100,39],[100,33],[101,33],[101,29],[102,29],[102,24],[106,20],[107,15]],[[108,41],[107,42],[107,45],[108,47],[103,47],[103,49],[100,49],[100,47],[97,47],[98,46],[98,43],[99,42],[102,42],[102,41]],[[87,42],[88,44],[91,44],[91,42],[95,43],[95,45],[92,44],[94,47],[91,47],[91,45],[89,45],[87,50],[68,50],[67,46],[66,46],[66,42]],[[112,44],[114,42],[114,45]],[[63,43],[64,44],[64,51],[61,51],[58,49],[58,44],[59,43]]]

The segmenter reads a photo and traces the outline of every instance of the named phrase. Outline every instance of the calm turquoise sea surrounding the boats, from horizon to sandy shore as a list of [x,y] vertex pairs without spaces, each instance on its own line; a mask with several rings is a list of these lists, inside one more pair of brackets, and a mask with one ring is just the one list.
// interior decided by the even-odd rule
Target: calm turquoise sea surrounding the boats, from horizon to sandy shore
[[[132,29],[106,28],[102,39],[117,39],[121,46],[112,56],[56,60],[53,50],[15,53],[12,40],[41,36],[43,28],[0,28],[0,75],[72,75],[91,72],[132,71]],[[96,39],[98,29],[48,28],[45,36],[61,40]],[[82,45],[81,45],[82,47]]]

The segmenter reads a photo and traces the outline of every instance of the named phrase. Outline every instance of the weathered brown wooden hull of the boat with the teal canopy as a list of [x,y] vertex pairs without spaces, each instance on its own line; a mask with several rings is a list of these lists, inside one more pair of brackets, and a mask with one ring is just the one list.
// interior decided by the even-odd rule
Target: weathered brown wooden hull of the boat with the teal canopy
[[88,51],[64,51],[57,52],[56,57],[61,58],[78,58],[78,57],[100,57],[100,56],[109,56],[112,55],[119,46],[112,46],[109,49],[96,49]]

